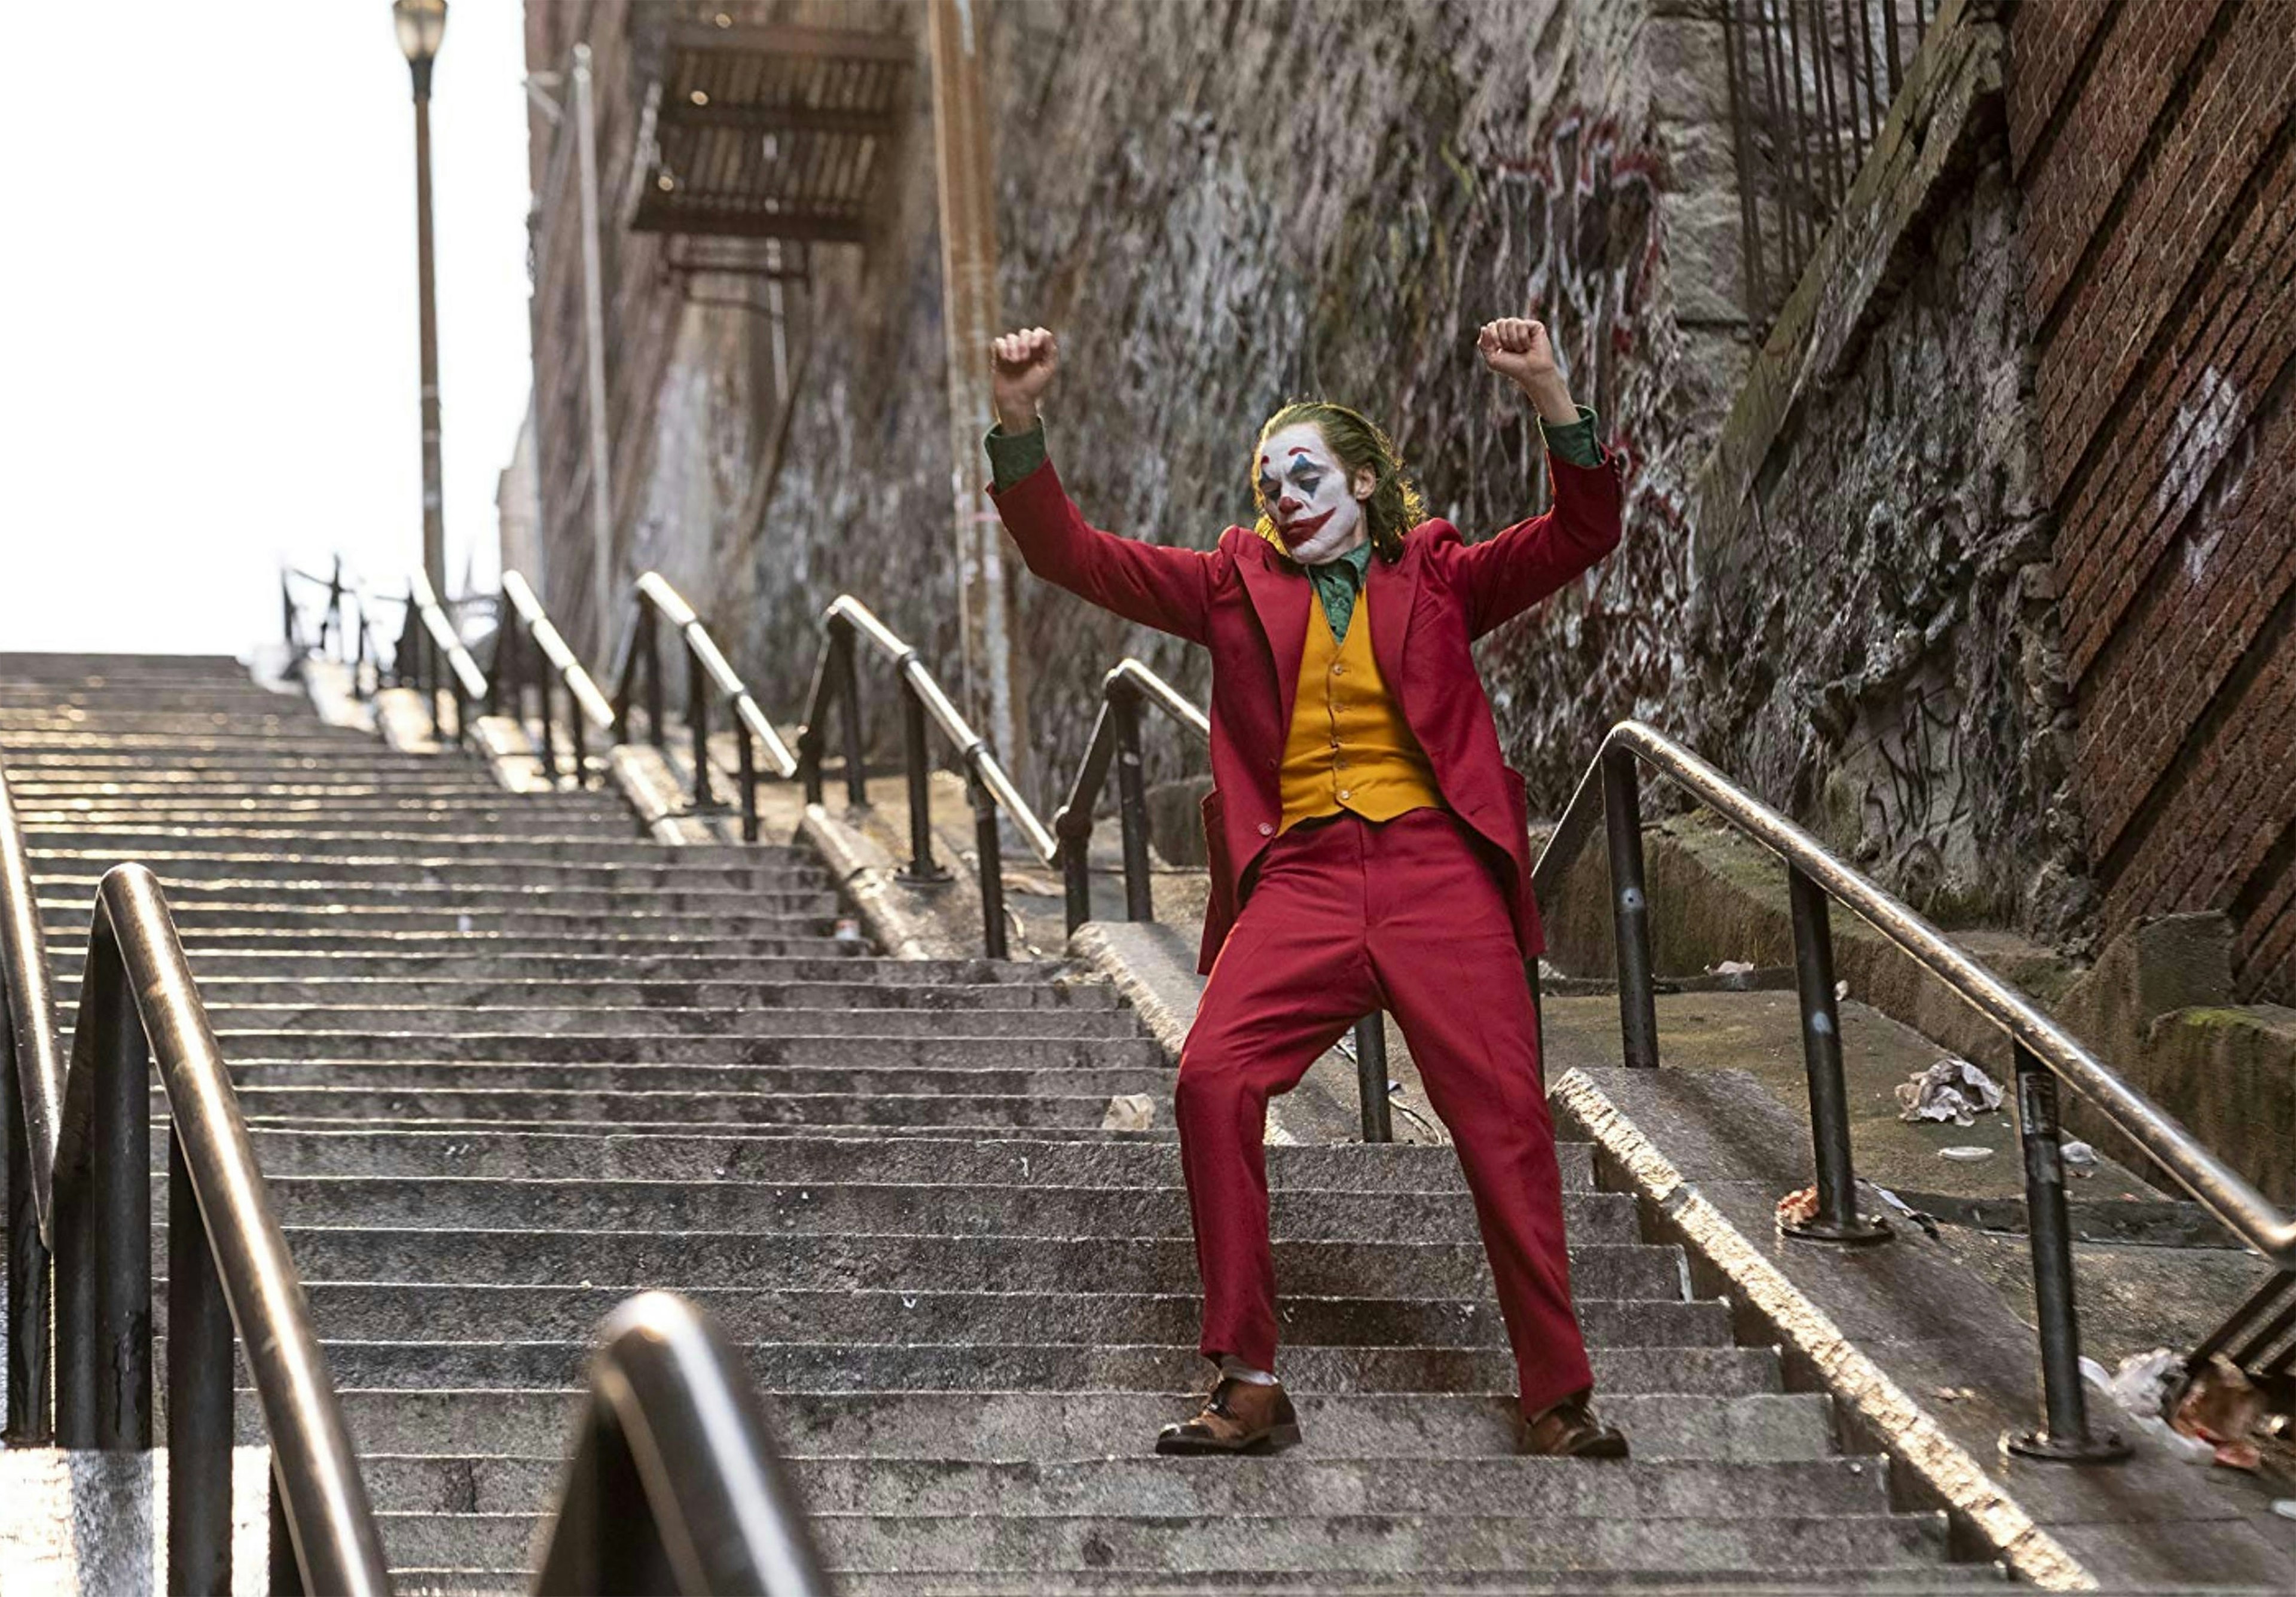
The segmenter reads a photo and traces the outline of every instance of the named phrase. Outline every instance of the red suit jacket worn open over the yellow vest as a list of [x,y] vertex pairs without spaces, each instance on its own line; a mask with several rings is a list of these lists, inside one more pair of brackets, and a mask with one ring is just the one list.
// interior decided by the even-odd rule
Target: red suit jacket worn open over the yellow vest
[[[1499,757],[1490,700],[1467,645],[1575,578],[1619,546],[1619,457],[1603,466],[1552,459],[1554,509],[1465,544],[1449,521],[1421,521],[1391,567],[1366,583],[1371,652],[1435,771],[1444,803],[1506,865],[1515,943],[1545,948],[1531,899],[1529,808],[1522,776]],[[1022,560],[1047,583],[1104,610],[1212,649],[1212,792],[1203,799],[1212,904],[1196,968],[1210,971],[1235,925],[1261,849],[1277,835],[1277,766],[1313,587],[1251,528],[1212,548],[1169,548],[1102,532],[1084,519],[1045,461],[1003,493],[990,489]]]

